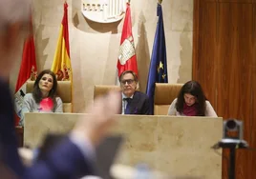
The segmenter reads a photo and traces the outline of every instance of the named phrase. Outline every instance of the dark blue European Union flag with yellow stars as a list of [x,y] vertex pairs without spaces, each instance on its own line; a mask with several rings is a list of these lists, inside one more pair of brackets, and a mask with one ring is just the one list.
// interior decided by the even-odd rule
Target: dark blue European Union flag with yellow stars
[[154,114],[155,83],[168,83],[165,35],[160,4],[158,4],[158,16],[159,22],[155,34],[146,89],[152,114]]

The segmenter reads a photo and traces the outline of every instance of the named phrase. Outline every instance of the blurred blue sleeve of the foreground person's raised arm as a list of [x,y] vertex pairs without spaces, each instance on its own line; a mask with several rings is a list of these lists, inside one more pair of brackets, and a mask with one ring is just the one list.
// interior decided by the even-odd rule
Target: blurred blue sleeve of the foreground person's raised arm
[[79,178],[84,175],[96,174],[94,165],[93,160],[86,158],[82,151],[67,137],[53,148],[46,160],[38,161],[32,168],[26,169],[22,178]]

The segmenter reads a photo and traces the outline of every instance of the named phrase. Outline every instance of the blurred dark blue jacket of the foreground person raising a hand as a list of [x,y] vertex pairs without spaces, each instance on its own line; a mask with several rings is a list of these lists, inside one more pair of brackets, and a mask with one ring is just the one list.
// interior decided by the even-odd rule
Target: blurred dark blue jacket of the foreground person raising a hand
[[51,150],[47,158],[26,169],[17,151],[14,109],[9,84],[0,80],[0,146],[1,160],[18,178],[71,179],[94,174],[93,162],[67,137]]

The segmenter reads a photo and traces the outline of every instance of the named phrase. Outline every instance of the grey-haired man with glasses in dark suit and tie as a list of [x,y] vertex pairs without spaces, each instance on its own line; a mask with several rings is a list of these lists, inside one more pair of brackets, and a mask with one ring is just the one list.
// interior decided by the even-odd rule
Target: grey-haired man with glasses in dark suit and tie
[[122,91],[122,114],[149,115],[149,99],[143,92],[137,91],[138,77],[132,70],[125,70],[119,76]]

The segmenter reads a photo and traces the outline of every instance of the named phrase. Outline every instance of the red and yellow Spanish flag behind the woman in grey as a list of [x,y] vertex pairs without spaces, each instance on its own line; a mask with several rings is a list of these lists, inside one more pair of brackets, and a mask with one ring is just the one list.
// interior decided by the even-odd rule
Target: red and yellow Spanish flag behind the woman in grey
[[70,59],[68,4],[64,3],[64,15],[59,30],[57,47],[54,54],[52,69],[58,81],[71,81],[72,67]]

